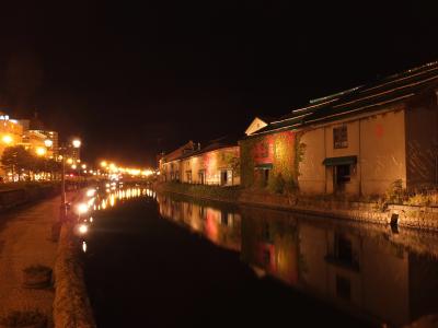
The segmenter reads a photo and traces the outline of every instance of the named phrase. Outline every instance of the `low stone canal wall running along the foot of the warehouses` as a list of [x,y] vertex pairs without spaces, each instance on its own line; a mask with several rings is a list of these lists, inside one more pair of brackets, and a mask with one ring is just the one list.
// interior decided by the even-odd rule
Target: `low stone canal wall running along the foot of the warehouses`
[[336,200],[296,195],[285,196],[241,188],[234,188],[230,192],[230,190],[227,190],[227,187],[208,186],[208,188],[205,188],[206,186],[185,184],[160,183],[155,184],[154,187],[159,191],[176,192],[237,204],[280,209],[367,223],[393,224],[394,226],[438,231],[438,208],[436,207],[381,204],[379,202]]

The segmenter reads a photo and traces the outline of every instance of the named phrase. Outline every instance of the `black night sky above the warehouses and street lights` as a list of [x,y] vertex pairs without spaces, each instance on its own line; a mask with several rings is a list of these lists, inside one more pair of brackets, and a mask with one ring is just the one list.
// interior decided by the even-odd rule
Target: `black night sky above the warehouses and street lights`
[[2,4],[0,106],[37,108],[81,136],[90,161],[152,164],[189,139],[243,133],[255,115],[438,59],[436,10],[414,1],[136,2]]

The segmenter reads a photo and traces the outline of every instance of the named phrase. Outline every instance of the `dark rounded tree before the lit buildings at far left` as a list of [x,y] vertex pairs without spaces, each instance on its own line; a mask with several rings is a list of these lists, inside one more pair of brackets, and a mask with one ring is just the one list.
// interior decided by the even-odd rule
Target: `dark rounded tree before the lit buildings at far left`
[[34,156],[24,147],[13,145],[4,149],[0,162],[3,169],[20,178],[24,169],[32,169]]

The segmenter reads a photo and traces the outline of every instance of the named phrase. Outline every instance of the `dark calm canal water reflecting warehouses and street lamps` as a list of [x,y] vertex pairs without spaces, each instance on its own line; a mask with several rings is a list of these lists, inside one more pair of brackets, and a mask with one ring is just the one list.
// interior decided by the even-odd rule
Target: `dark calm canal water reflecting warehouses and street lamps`
[[435,234],[112,189],[82,244],[99,327],[402,326],[438,312]]

